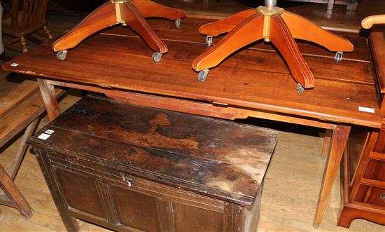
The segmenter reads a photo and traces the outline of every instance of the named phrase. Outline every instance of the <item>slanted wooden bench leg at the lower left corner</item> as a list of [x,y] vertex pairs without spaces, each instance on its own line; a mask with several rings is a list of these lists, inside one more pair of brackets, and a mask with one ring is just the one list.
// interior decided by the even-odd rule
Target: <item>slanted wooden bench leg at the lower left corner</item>
[[18,187],[15,183],[12,182],[10,177],[8,176],[6,170],[4,170],[3,166],[0,165],[0,187],[6,193],[8,199],[4,200],[1,198],[2,204],[6,204],[12,207],[15,207],[19,210],[20,214],[23,217],[29,218],[34,214],[34,211],[31,209],[27,200],[25,200],[22,193],[20,193]]

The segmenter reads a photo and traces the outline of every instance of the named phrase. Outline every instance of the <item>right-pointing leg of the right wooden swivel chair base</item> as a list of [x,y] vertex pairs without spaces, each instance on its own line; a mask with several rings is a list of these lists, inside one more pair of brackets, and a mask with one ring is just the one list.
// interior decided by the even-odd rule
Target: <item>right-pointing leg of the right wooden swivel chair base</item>
[[307,18],[288,11],[285,11],[281,17],[295,39],[311,41],[335,52],[353,50],[353,44],[349,40],[318,27]]

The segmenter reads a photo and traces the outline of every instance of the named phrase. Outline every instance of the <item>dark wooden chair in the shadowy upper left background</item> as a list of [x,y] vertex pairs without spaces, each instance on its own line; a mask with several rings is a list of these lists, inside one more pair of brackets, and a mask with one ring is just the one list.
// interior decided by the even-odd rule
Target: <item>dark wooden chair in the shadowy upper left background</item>
[[43,29],[49,39],[52,35],[47,27],[45,15],[47,13],[48,0],[12,0],[11,11],[3,16],[3,33],[16,37],[5,42],[4,46],[11,50],[20,50],[13,43],[20,41],[23,53],[28,51],[25,36]]

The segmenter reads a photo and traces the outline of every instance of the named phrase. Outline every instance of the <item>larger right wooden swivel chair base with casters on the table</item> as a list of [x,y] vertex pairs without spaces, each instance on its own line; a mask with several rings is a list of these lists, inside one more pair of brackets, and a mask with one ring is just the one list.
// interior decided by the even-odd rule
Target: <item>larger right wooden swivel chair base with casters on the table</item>
[[207,35],[209,43],[213,36],[229,32],[193,61],[193,69],[200,72],[200,81],[206,80],[211,67],[216,67],[235,51],[264,39],[279,50],[297,82],[297,90],[303,93],[304,89],[314,88],[314,76],[294,39],[311,41],[337,52],[336,62],[342,59],[342,52],[353,50],[353,44],[347,39],[314,25],[300,15],[276,7],[276,0],[265,0],[265,4],[200,27],[200,34]]

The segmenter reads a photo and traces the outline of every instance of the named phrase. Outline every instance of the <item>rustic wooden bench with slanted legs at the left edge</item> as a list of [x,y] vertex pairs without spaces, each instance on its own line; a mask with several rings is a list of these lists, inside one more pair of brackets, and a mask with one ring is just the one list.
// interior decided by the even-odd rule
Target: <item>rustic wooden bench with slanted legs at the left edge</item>
[[[63,93],[60,89],[55,92],[58,96]],[[25,129],[8,173],[0,165],[0,186],[3,190],[0,193],[0,204],[17,208],[24,217],[31,217],[33,211],[13,180],[27,151],[27,139],[34,132],[38,118],[44,111],[44,102],[36,81],[25,80],[0,97],[0,147]]]

